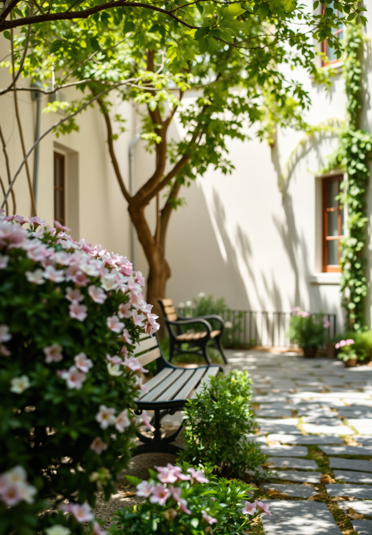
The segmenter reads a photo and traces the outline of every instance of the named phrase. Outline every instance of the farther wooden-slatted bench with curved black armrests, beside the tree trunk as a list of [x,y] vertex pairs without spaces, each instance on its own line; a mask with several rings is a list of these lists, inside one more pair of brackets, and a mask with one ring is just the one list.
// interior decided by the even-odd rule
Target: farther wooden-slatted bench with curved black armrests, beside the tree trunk
[[[176,355],[182,353],[196,354],[205,358],[208,364],[211,364],[207,353],[207,346],[217,349],[226,364],[226,357],[222,349],[222,336],[224,331],[224,321],[221,316],[214,314],[208,316],[199,316],[195,318],[185,318],[178,316],[176,309],[173,306],[172,299],[159,299],[158,303],[164,315],[164,322],[169,333],[169,362]],[[220,328],[212,330],[211,324],[208,320],[215,320],[220,324]],[[192,324],[201,324],[204,326],[203,331],[185,332],[183,329]],[[183,348],[183,344],[187,343],[188,347]]]

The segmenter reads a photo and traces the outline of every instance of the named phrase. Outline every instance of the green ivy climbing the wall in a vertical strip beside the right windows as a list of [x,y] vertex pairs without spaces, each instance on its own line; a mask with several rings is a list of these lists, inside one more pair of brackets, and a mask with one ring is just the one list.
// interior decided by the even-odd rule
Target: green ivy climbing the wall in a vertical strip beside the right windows
[[347,236],[340,241],[342,277],[340,289],[342,305],[346,311],[345,328],[360,331],[366,328],[364,302],[367,295],[366,264],[363,256],[367,233],[367,189],[369,184],[368,155],[372,149],[372,134],[359,128],[362,109],[362,66],[359,53],[363,34],[359,24],[346,29],[344,43],[344,78],[347,95],[347,125],[340,132],[336,154],[327,169],[339,167],[346,173],[338,196],[340,204],[347,207],[345,223]]

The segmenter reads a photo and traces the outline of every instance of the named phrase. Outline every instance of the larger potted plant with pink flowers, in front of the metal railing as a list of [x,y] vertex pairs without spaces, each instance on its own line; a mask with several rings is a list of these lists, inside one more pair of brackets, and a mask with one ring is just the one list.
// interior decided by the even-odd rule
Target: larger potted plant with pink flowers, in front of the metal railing
[[292,309],[289,338],[303,349],[305,357],[313,358],[317,348],[324,343],[325,330],[328,327],[329,322],[321,312],[311,314],[296,307]]

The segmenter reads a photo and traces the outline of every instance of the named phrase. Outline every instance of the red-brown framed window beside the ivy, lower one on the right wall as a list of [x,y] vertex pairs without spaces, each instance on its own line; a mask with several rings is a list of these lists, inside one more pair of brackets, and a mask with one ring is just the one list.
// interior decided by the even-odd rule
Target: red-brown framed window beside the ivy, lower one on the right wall
[[323,271],[340,271],[339,239],[344,236],[344,210],[335,197],[342,176],[323,178]]

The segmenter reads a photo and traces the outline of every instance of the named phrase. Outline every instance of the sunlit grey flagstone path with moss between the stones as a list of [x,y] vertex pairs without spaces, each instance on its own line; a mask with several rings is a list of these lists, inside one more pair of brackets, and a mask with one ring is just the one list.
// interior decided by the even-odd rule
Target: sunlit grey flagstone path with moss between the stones
[[273,513],[262,515],[265,533],[372,535],[372,367],[226,353],[226,371],[248,370],[254,381],[254,439],[272,463],[258,493]]

